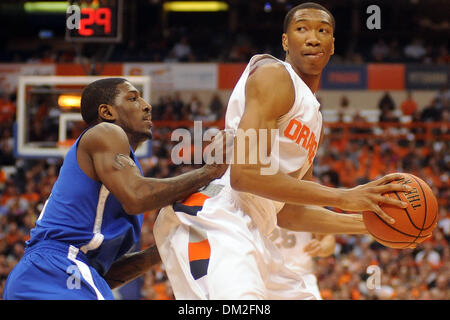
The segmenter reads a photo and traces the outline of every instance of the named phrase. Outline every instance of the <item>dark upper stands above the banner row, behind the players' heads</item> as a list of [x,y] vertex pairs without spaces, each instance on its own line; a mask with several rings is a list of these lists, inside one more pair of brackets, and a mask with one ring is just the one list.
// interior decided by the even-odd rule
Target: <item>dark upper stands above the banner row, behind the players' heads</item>
[[[0,61],[81,63],[94,57],[120,62],[247,62],[262,52],[281,58],[283,19],[299,3],[229,0],[226,12],[163,14],[162,2],[124,2],[123,40],[111,51],[99,43],[64,41],[64,14],[17,15],[5,10],[0,12],[0,24],[4,24],[0,28],[4,44]],[[331,63],[450,62],[450,26],[445,14],[450,7],[446,1],[379,1],[381,26],[376,30],[366,27],[366,9],[371,2],[318,2],[329,8],[336,20],[336,52]],[[8,32],[10,28],[23,40]]]

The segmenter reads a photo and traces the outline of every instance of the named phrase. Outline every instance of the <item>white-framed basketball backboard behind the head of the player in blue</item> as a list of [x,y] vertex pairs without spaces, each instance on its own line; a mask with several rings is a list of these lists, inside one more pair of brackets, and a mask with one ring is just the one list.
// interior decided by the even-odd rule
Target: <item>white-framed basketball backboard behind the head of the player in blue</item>
[[[124,76],[150,101],[149,76]],[[82,89],[99,76],[22,76],[17,91],[17,123],[14,130],[17,158],[60,158],[86,128],[80,111]],[[62,101],[62,97],[65,101]],[[71,102],[72,101],[72,102]],[[78,106],[76,105],[78,101]],[[73,105],[71,105],[73,104]],[[151,155],[146,141],[139,158]]]

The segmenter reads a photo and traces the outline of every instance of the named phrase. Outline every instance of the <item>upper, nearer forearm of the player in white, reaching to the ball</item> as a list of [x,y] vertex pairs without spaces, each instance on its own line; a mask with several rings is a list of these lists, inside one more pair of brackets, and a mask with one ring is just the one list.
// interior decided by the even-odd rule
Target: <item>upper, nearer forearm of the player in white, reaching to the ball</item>
[[340,208],[345,193],[344,189],[299,180],[281,172],[261,175],[256,166],[244,165],[232,165],[231,186],[237,191],[249,192],[275,201],[337,208]]

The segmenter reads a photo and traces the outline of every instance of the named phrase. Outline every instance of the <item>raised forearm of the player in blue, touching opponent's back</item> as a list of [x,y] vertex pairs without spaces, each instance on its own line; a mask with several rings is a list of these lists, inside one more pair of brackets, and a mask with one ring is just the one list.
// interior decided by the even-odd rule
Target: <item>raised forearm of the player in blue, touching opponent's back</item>
[[136,214],[160,209],[186,198],[216,177],[215,172],[202,167],[173,178],[142,178],[135,186],[133,199],[125,210]]

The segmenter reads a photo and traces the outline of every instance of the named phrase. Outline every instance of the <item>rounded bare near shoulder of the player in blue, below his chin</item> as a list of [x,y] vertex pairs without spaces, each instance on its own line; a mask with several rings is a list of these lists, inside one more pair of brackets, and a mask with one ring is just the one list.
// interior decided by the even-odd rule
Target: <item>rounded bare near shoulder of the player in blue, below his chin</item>
[[129,145],[128,136],[118,125],[101,122],[89,128],[82,137],[82,144],[88,149],[101,149],[109,145]]

